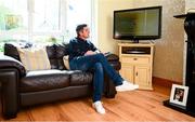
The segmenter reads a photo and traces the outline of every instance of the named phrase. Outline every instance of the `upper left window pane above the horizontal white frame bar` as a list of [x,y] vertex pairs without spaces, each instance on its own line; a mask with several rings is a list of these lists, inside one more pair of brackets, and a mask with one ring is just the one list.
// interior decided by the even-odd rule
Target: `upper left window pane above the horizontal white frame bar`
[[27,30],[27,1],[0,0],[0,30],[25,31]]

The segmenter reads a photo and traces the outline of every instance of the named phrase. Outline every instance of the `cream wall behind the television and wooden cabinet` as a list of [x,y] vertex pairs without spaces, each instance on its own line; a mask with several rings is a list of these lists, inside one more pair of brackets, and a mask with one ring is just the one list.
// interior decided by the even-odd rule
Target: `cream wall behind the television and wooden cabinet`
[[173,15],[185,11],[185,0],[99,0],[98,45],[104,52],[118,54],[113,39],[113,11],[162,5],[161,39],[155,41],[153,76],[177,82],[183,78],[183,21]]

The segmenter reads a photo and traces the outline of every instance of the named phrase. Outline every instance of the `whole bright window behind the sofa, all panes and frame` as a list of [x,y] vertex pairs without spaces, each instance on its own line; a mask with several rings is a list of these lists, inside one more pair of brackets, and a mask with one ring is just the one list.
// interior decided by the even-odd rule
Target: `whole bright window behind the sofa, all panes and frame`
[[11,41],[68,42],[78,24],[92,28],[92,4],[93,0],[0,0],[0,52]]

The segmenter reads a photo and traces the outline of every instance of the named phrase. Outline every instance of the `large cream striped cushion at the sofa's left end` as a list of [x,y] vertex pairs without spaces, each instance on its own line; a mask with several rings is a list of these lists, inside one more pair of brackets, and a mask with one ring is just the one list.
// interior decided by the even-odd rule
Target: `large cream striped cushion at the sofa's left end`
[[17,52],[26,70],[51,69],[46,48],[17,48]]

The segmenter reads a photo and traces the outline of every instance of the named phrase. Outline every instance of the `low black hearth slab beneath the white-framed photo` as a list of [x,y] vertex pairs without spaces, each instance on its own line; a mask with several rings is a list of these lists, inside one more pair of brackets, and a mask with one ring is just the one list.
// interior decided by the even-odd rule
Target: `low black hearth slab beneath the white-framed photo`
[[185,107],[180,106],[180,105],[171,104],[171,103],[169,103],[169,100],[165,100],[165,101],[164,101],[164,106],[169,107],[169,108],[172,108],[172,109],[178,110],[178,111],[180,111],[180,112],[183,112],[183,113],[185,113],[185,114],[195,117],[195,111],[187,110]]

